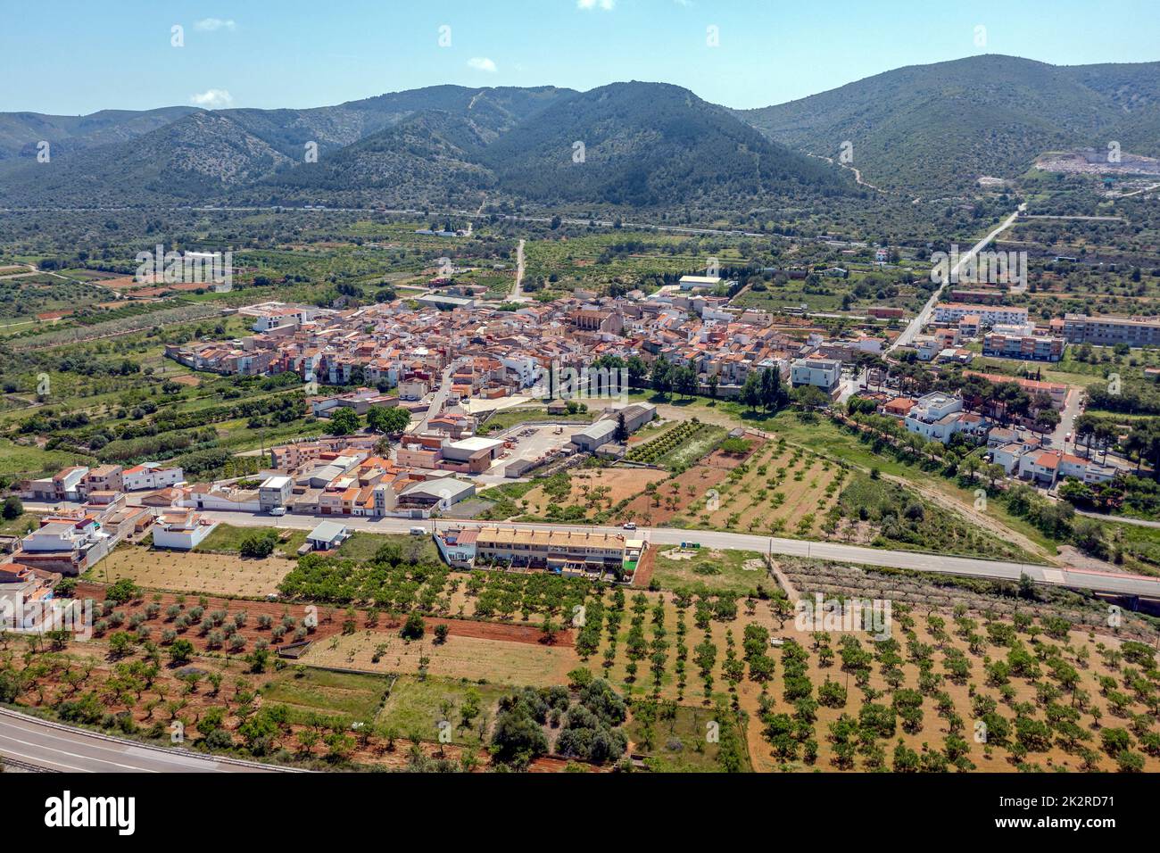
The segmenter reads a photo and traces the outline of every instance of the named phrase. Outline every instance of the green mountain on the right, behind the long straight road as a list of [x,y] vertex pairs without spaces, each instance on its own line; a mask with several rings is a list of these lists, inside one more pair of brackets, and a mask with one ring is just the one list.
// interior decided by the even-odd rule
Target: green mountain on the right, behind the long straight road
[[915,65],[737,115],[818,154],[854,146],[864,178],[909,191],[1013,178],[1043,151],[1117,140],[1160,151],[1160,63],[1054,66],[1005,56]]

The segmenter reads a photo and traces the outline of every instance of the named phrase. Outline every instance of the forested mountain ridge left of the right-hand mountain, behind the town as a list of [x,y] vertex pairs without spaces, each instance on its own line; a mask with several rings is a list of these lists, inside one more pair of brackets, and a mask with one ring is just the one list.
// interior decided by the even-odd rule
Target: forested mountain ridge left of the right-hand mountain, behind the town
[[631,207],[853,191],[839,171],[728,110],[645,82],[586,93],[436,86],[306,110],[200,110],[123,144],[10,165],[0,190],[14,205],[429,205],[494,190]]

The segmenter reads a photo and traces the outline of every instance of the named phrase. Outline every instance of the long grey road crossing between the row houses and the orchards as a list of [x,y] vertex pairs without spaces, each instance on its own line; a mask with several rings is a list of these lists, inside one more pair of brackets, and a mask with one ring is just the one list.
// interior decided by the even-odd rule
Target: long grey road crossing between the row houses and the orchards
[[[283,515],[271,518],[258,513],[238,512],[204,512],[203,515],[229,525],[240,527],[270,527],[271,522],[277,527],[290,527],[293,529],[313,529],[324,519],[335,520],[334,516],[313,515]],[[342,523],[351,530],[365,530],[369,533],[407,533],[415,525],[407,519],[384,519],[384,518],[345,518]],[[464,525],[479,525],[472,521],[428,521],[425,526],[444,529],[447,527],[463,527]],[[506,527],[519,529],[571,529],[578,533],[623,533],[618,527],[592,527],[586,525],[528,525],[509,523]],[[741,533],[726,533],[716,530],[683,530],[670,527],[640,528],[638,535],[647,538],[653,544],[668,545],[681,542],[699,542],[706,548],[738,549],[747,551],[761,551],[764,554],[782,555],[788,557],[810,557],[814,559],[829,559],[838,563],[860,563],[864,565],[889,566],[894,569],[911,569],[914,571],[935,572],[938,574],[964,574],[977,578],[991,578],[1000,580],[1018,580],[1021,574],[1028,574],[1034,580],[1043,584],[1057,586],[1068,586],[1078,590],[1092,590],[1095,592],[1115,593],[1121,595],[1144,595],[1146,598],[1160,599],[1160,578],[1147,578],[1139,574],[1128,574],[1122,572],[1095,572],[1071,568],[1054,568],[1036,565],[1031,563],[1013,563],[992,559],[977,559],[972,557],[952,557],[941,554],[925,554],[916,551],[891,551],[878,548],[863,548],[861,545],[847,545],[838,542],[807,542],[803,540],[777,538],[771,536],[754,536]]]

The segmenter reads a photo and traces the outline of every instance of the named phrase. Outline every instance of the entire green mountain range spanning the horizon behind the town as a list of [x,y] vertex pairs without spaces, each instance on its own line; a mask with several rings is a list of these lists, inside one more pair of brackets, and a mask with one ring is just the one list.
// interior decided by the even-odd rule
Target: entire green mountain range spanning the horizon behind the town
[[311,109],[0,114],[0,204],[744,209],[868,191],[819,159],[847,142],[865,181],[930,195],[1111,140],[1160,154],[1160,63],[979,56],[755,110],[654,82],[433,86]]

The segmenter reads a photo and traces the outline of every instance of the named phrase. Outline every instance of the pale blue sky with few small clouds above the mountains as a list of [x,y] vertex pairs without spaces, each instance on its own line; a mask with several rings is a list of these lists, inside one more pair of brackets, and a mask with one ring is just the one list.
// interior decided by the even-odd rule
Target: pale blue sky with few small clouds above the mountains
[[[1155,0],[3,3],[2,111],[317,107],[443,82],[588,89],[616,80],[762,107],[976,53],[1059,65],[1160,59]],[[171,45],[174,26],[182,48]]]

